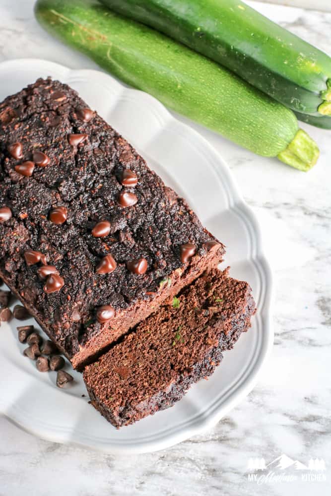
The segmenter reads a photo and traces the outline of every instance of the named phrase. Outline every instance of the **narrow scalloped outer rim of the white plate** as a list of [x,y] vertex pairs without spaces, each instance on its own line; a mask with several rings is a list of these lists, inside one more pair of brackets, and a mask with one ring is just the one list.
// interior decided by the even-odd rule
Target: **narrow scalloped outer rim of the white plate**
[[[19,64],[19,65],[18,65]],[[107,74],[103,71],[95,70],[95,69],[71,69],[66,67],[63,64],[59,64],[57,62],[50,62],[44,59],[12,59],[0,62],[0,70],[4,70],[6,68],[15,68],[19,67],[20,69],[27,66],[31,69],[31,65],[36,65],[39,67],[42,65],[44,68],[50,68],[50,70],[61,71],[63,74],[68,73],[79,73],[83,75],[88,75],[92,80],[98,79],[101,80],[103,84],[109,84],[109,81],[112,81],[112,84],[116,85],[118,89],[122,90],[123,93],[130,93],[134,96],[134,94],[139,94],[139,98],[144,99],[144,103],[149,106],[149,110],[152,114],[158,118],[160,118],[163,124],[167,123],[170,125],[176,125],[179,129],[183,130],[183,133],[186,135],[193,136],[195,138],[193,140],[194,143],[200,143],[203,146],[204,151],[207,151],[211,156],[210,165],[213,168],[214,172],[217,176],[222,180],[224,185],[224,180],[226,181],[226,192],[227,192],[227,200],[228,200],[228,208],[234,210],[238,215],[245,218],[245,226],[249,228],[249,235],[251,240],[251,260],[254,261],[255,265],[265,274],[265,291],[264,291],[264,301],[261,307],[261,310],[255,316],[255,318],[264,319],[264,341],[261,351],[259,353],[258,359],[254,363],[254,367],[251,369],[248,377],[246,377],[239,387],[233,392],[230,392],[227,395],[227,398],[222,401],[221,405],[212,405],[213,411],[206,414],[205,412],[199,412],[193,419],[190,420],[189,425],[180,427],[176,432],[172,433],[169,436],[157,438],[156,440],[146,440],[146,441],[138,441],[138,444],[125,444],[124,446],[120,446],[120,443],[116,444],[103,444],[102,442],[89,442],[88,436],[85,438],[85,442],[72,439],[67,435],[66,432],[58,432],[54,429],[54,426],[48,426],[46,428],[42,428],[39,424],[39,430],[34,429],[32,425],[24,425],[24,423],[19,419],[19,416],[16,415],[16,418],[13,418],[13,412],[11,411],[11,416],[9,416],[5,411],[1,410],[1,402],[0,402],[0,413],[2,413],[11,423],[17,425],[19,428],[23,429],[25,432],[36,435],[38,437],[42,437],[52,442],[61,442],[61,443],[69,443],[74,445],[79,445],[85,448],[94,449],[97,451],[107,452],[107,453],[144,453],[144,452],[152,452],[161,449],[168,448],[173,446],[179,442],[182,442],[189,437],[192,437],[197,434],[201,434],[206,430],[213,427],[217,424],[221,418],[229,413],[232,408],[238,405],[254,388],[257,383],[258,375],[262,370],[263,365],[268,359],[272,346],[273,346],[273,326],[272,326],[272,314],[273,314],[273,277],[270,265],[267,261],[267,258],[263,249],[263,240],[262,240],[262,232],[260,228],[259,221],[253,211],[253,209],[245,202],[242,197],[242,194],[239,190],[239,187],[234,179],[228,165],[226,164],[223,157],[218,153],[218,151],[213,147],[209,141],[204,138],[198,131],[193,129],[190,125],[184,124],[179,121],[176,117],[174,117],[164,105],[159,102],[153,96],[142,92],[140,90],[136,90],[130,88],[118,81],[112,75]],[[38,68],[39,68],[38,67]],[[41,70],[43,70],[41,69]],[[200,146],[199,145],[199,146]],[[222,175],[220,174],[220,170],[215,167],[214,162],[220,162],[222,164]],[[254,236],[252,235],[254,233]],[[253,256],[254,252],[254,256]],[[217,403],[217,402],[216,402]],[[90,439],[92,441],[92,439]]]

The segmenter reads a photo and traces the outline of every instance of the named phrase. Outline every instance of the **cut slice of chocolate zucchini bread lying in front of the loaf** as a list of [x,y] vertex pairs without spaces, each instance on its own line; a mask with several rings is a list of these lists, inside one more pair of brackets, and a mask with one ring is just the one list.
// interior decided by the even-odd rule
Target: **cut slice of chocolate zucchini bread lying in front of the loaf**
[[85,368],[93,406],[116,427],[172,406],[214,372],[254,313],[246,282],[227,270],[204,273]]

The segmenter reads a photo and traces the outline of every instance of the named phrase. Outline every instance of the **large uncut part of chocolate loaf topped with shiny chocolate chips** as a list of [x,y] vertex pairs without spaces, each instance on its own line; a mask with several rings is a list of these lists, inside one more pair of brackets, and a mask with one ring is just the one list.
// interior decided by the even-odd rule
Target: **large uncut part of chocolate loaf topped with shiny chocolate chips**
[[0,277],[81,368],[222,259],[132,146],[59,81],[0,104]]

